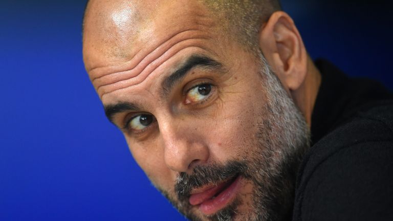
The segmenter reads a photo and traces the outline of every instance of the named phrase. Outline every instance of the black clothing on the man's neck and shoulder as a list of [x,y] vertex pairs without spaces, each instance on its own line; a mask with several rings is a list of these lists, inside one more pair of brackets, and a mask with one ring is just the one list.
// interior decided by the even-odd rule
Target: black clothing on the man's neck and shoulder
[[326,61],[293,220],[393,220],[393,95]]

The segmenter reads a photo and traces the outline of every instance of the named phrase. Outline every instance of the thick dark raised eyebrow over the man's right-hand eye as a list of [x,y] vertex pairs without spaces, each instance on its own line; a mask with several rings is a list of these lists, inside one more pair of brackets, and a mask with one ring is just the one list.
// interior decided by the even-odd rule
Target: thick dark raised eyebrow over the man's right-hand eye
[[204,55],[192,55],[176,71],[163,80],[161,84],[162,96],[168,96],[170,91],[173,89],[173,86],[179,83],[189,73],[189,71],[195,67],[215,69],[220,72],[224,72],[223,65],[220,62]]

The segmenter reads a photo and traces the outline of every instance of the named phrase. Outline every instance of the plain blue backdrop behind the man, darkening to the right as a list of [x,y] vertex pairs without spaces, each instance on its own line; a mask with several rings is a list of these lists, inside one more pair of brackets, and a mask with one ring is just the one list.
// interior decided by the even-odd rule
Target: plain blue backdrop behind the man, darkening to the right
[[[392,1],[282,1],[313,58],[393,88]],[[85,1],[1,1],[0,220],[184,220],[105,119]]]

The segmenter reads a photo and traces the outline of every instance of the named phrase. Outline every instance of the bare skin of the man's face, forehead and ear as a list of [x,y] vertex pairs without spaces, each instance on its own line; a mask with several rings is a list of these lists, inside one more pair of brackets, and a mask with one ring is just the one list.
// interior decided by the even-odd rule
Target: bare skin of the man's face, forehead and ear
[[[310,125],[320,74],[292,19],[284,12],[274,13],[260,27],[258,39],[260,50]],[[222,67],[194,67],[165,91],[165,79],[193,55],[212,58]],[[104,106],[138,107],[114,115],[112,121],[151,182],[172,199],[179,173],[239,160],[245,150],[258,146],[258,122],[269,113],[257,58],[223,32],[219,21],[196,1],[149,1],[143,6],[91,1],[83,59]],[[208,98],[189,93],[200,84],[212,85]],[[124,128],[141,114],[155,120],[142,130]],[[246,180],[241,185],[239,212],[247,213],[253,186]],[[204,219],[197,207],[191,210]]]

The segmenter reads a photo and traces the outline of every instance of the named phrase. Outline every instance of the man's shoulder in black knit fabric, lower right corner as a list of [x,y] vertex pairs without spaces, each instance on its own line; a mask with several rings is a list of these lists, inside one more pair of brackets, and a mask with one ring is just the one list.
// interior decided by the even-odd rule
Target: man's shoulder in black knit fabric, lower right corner
[[305,155],[294,220],[393,219],[393,102],[359,112]]

